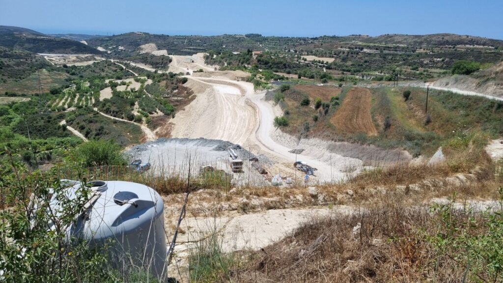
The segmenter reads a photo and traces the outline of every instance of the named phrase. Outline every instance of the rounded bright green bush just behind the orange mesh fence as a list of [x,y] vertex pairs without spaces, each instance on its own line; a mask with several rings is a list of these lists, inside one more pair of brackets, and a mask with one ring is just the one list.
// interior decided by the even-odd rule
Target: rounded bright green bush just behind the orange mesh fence
[[78,147],[74,154],[85,167],[128,164],[121,147],[111,140],[90,140]]

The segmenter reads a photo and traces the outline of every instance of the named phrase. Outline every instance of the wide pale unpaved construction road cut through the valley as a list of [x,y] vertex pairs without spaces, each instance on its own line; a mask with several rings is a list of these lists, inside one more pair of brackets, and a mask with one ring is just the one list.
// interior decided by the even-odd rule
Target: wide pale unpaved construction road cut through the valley
[[[180,59],[183,56],[178,57]],[[177,62],[173,60],[172,64]],[[193,64],[184,63],[183,67],[193,69],[199,65]],[[177,66],[170,65],[172,67]],[[331,166],[312,156],[290,153],[292,148],[273,138],[273,132],[277,130],[273,120],[279,113],[275,112],[270,102],[264,100],[265,92],[256,92],[253,84],[226,79],[221,74],[212,72],[210,77],[188,76],[187,86],[197,97],[172,120],[173,137],[228,140],[259,151],[278,164],[286,164],[279,166],[278,171],[288,171],[289,174],[294,172],[293,162],[304,161],[318,169],[316,175],[319,181],[340,180],[346,176],[341,171],[344,164]]]

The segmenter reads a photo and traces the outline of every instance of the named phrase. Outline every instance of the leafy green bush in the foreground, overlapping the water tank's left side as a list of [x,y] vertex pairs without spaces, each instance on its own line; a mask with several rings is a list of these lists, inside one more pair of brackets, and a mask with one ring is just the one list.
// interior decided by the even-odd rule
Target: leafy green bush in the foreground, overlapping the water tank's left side
[[[105,253],[66,237],[66,228],[89,199],[89,189],[82,187],[78,197],[69,199],[55,173],[30,173],[16,163],[0,170],[0,189],[5,196],[0,210],[0,281],[113,281]],[[30,193],[38,201],[31,201]],[[53,195],[61,196],[57,197],[59,206],[49,209]],[[12,206],[5,209],[7,204]]]

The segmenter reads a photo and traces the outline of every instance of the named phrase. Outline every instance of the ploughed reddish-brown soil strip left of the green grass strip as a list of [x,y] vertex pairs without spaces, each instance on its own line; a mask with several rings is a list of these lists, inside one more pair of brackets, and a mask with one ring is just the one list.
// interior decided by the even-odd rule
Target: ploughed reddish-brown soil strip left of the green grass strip
[[341,133],[376,135],[377,130],[370,115],[371,100],[372,94],[368,89],[351,89],[330,122]]

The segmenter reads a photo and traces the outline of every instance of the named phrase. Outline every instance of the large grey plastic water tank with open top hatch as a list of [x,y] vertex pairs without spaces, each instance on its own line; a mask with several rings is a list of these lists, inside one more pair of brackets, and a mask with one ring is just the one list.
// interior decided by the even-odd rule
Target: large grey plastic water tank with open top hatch
[[[67,182],[68,197],[78,193],[81,184]],[[94,202],[67,230],[68,237],[88,240],[99,247],[107,240],[110,261],[117,268],[144,267],[158,279],[165,277],[166,243],[163,202],[152,188],[133,182],[94,181],[87,184],[96,191]],[[145,268],[146,267],[146,268]]]

